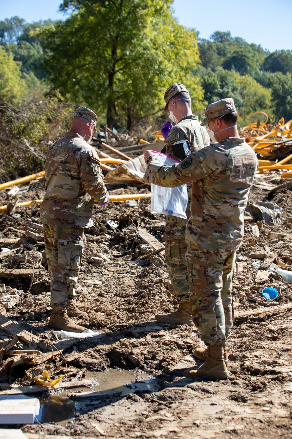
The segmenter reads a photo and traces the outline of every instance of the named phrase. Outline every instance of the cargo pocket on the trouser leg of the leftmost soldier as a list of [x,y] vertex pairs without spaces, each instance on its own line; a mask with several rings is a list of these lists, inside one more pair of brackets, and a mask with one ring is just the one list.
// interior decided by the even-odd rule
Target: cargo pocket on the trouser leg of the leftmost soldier
[[[66,242],[66,244],[65,244]],[[79,270],[82,258],[83,241],[58,240],[58,266],[67,270]]]

